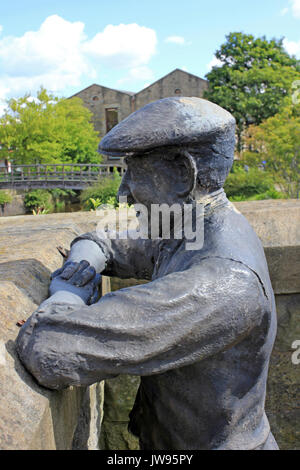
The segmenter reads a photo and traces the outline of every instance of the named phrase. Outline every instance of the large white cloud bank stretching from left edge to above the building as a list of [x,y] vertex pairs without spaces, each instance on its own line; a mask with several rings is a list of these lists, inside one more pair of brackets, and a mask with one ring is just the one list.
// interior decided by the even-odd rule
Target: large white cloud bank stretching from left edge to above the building
[[41,85],[52,92],[80,86],[83,77],[95,79],[96,67],[103,64],[128,69],[133,78],[151,79],[146,65],[156,51],[153,29],[137,24],[108,25],[89,39],[84,28],[80,21],[52,15],[37,31],[20,37],[2,35],[0,102],[25,92],[35,93]]

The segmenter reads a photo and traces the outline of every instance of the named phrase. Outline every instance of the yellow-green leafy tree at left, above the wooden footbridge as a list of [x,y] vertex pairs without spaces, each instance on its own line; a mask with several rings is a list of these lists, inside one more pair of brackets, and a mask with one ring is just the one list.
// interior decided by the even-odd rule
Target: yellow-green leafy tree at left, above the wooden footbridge
[[37,98],[11,99],[0,118],[0,158],[18,164],[99,163],[99,137],[79,98],[60,99],[41,88]]

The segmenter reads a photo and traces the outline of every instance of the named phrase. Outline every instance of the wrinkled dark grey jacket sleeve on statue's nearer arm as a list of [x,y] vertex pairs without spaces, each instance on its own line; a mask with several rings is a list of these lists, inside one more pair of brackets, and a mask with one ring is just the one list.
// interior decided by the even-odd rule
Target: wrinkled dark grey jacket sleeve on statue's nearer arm
[[254,272],[210,258],[107,294],[90,307],[37,310],[22,327],[17,349],[38,382],[61,389],[201,361],[239,342],[268,312]]

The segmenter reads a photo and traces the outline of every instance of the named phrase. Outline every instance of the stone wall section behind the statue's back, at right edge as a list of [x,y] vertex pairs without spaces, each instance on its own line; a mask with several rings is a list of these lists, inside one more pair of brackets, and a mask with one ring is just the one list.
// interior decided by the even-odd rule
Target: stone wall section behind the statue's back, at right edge
[[236,203],[263,242],[275,292],[278,331],[266,411],[281,449],[300,448],[299,370],[292,344],[300,340],[300,201]]

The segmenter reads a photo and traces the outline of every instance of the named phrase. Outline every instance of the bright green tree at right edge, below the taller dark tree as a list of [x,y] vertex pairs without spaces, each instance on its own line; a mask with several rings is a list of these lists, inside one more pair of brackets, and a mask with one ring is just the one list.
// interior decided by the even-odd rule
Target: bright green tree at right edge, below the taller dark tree
[[242,159],[263,166],[288,197],[300,196],[300,104],[289,103],[260,126],[251,126]]

